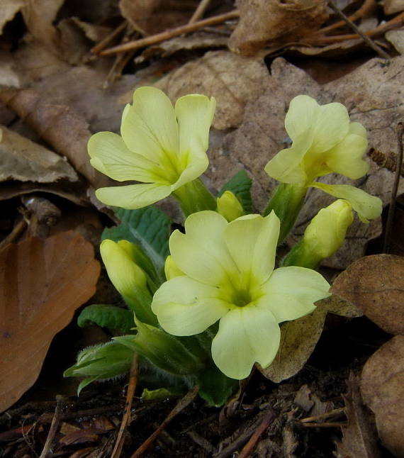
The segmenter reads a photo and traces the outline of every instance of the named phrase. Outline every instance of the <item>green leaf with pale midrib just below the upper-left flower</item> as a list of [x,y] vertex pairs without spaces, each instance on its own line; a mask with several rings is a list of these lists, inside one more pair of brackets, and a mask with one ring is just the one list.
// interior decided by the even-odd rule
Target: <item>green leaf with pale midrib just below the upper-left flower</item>
[[[164,280],[162,272],[164,262],[169,255],[168,240],[171,225],[168,216],[153,206],[138,210],[117,208],[115,213],[121,223],[115,228],[104,229],[102,240],[106,238],[115,242],[129,240],[140,245],[154,264],[160,280]],[[144,266],[140,267],[145,269]],[[152,275],[150,276],[152,277]]]

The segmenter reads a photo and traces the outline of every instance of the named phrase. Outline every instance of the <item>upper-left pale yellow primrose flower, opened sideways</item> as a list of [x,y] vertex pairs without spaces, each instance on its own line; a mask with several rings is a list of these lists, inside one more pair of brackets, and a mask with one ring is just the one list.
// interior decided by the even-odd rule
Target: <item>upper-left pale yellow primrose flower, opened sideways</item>
[[191,94],[172,106],[164,92],[141,87],[125,106],[120,135],[99,132],[89,140],[91,165],[116,181],[141,184],[97,189],[107,205],[141,208],[155,203],[208,167],[208,135],[215,99]]

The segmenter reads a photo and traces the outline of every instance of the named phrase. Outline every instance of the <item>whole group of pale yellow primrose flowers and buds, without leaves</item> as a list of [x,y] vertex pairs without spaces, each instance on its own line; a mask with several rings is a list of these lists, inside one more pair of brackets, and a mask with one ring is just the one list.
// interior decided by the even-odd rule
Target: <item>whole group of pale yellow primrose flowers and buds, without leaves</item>
[[[152,352],[167,357],[174,341],[168,337],[210,330],[215,365],[232,379],[244,379],[255,363],[268,367],[274,360],[280,323],[311,313],[314,303],[329,295],[329,284],[314,269],[342,245],[352,209],[368,222],[380,216],[381,201],[354,186],[315,181],[332,172],[364,176],[369,170],[363,159],[366,130],[349,121],[342,104],[320,106],[304,95],[291,101],[286,115],[291,147],[265,167],[280,184],[264,216],[245,215],[230,191],[215,199],[199,179],[208,167],[214,111],[213,98],[188,95],[173,107],[162,91],[142,87],[123,111],[120,135],[96,133],[89,155],[93,167],[108,177],[140,182],[98,189],[101,202],[135,209],[172,194],[186,216],[185,233],[174,230],[169,238],[167,281],[153,289],[138,265],[135,245],[102,242],[108,275],[138,328],[137,335],[118,342],[138,342],[133,348],[158,365]],[[276,247],[293,227],[310,186],[340,200],[313,218],[301,242],[275,269]]]

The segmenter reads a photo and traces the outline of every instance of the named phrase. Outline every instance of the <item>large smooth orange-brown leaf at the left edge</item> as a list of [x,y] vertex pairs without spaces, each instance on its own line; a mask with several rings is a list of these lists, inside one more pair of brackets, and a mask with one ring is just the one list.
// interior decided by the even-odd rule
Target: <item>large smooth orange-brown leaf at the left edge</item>
[[73,231],[0,252],[0,411],[35,382],[52,338],[96,291],[94,248]]

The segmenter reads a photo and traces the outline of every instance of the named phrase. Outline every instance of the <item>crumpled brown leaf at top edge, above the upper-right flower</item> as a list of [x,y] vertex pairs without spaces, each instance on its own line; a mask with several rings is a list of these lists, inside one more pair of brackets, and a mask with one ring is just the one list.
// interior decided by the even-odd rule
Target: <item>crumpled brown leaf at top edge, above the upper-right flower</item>
[[320,28],[327,19],[323,0],[237,0],[240,21],[229,48],[254,55],[268,43],[296,41]]

